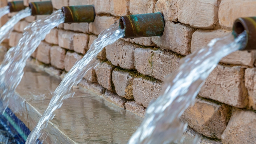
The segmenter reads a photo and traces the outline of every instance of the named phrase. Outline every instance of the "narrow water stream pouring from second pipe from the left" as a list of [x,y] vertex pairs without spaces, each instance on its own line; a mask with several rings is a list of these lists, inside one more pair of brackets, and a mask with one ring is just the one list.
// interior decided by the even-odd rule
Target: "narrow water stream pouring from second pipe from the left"
[[15,24],[17,24],[21,19],[24,19],[28,16],[31,16],[31,9],[29,7],[19,11],[15,16],[10,18],[10,20],[6,24],[4,24],[2,28],[0,28],[0,43],[2,43],[5,38],[8,38],[10,36],[10,32],[13,30]]

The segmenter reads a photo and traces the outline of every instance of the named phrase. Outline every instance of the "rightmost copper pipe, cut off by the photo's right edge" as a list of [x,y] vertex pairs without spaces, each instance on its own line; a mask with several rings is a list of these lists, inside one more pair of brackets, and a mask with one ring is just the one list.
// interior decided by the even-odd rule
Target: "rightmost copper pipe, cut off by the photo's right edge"
[[256,49],[256,17],[240,17],[235,20],[233,35],[237,37],[244,30],[246,30],[247,33],[247,42],[242,50]]

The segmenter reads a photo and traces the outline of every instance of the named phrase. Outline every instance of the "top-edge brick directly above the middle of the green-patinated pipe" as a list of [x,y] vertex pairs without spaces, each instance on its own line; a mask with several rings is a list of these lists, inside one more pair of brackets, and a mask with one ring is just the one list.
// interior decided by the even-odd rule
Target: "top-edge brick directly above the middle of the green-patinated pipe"
[[130,0],[131,14],[153,13],[157,0]]

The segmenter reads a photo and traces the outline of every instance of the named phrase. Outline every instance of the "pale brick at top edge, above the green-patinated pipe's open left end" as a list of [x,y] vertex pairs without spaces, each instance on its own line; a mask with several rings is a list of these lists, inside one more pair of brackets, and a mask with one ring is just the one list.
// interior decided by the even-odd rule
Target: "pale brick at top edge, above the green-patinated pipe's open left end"
[[110,14],[125,16],[129,14],[130,0],[110,0]]

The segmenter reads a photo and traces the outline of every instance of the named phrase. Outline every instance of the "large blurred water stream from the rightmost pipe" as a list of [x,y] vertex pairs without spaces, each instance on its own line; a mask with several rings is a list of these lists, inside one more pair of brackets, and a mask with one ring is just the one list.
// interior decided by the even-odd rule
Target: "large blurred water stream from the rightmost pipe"
[[179,117],[194,102],[200,87],[218,62],[244,47],[246,32],[213,39],[207,47],[186,56],[179,69],[165,78],[162,95],[147,108],[141,126],[128,144],[167,144],[179,140],[187,124]]

